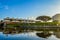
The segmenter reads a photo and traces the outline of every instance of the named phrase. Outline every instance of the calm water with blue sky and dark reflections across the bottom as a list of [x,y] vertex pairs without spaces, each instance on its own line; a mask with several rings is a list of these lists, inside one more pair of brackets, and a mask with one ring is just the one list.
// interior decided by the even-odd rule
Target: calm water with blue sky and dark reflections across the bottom
[[[13,31],[12,31],[13,30]],[[60,31],[17,31],[2,30],[1,40],[60,40]]]

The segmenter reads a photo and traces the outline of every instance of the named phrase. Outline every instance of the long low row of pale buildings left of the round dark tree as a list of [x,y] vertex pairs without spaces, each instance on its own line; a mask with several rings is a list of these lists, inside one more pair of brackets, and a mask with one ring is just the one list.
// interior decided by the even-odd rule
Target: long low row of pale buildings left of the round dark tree
[[34,20],[29,20],[29,19],[15,19],[15,18],[5,18],[4,19],[4,22],[7,22],[7,23],[11,23],[11,22],[14,22],[14,23],[35,23]]

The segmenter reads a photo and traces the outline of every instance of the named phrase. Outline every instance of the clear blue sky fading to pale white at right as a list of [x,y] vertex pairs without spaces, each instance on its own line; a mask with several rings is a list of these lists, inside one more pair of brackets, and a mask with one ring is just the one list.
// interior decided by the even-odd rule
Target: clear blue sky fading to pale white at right
[[31,18],[60,13],[60,0],[0,0],[0,19]]

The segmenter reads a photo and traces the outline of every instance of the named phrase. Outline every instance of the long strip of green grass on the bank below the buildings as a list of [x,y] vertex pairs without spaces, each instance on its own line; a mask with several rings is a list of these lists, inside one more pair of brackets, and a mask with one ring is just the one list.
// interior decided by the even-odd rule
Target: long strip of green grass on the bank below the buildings
[[8,27],[16,27],[16,26],[56,26],[56,22],[37,22],[37,23],[15,23],[15,24],[7,24]]

